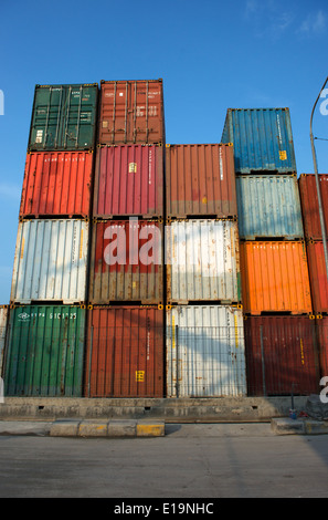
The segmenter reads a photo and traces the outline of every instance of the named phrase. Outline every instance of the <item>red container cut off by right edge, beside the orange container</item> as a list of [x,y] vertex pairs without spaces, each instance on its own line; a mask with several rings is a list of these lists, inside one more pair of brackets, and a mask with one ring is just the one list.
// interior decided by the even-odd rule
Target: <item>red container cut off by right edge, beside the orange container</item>
[[307,243],[307,260],[315,313],[328,313],[328,282],[324,242]]

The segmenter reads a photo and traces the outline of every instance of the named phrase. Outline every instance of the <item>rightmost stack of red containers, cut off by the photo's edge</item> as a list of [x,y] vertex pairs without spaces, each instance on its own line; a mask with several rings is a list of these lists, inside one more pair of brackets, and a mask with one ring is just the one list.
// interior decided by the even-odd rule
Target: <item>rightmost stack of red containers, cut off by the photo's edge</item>
[[[328,176],[318,175],[326,233],[328,230]],[[328,283],[324,252],[319,202],[314,174],[301,174],[298,179],[304,231],[309,266],[313,308],[316,315],[320,377],[328,375]]]

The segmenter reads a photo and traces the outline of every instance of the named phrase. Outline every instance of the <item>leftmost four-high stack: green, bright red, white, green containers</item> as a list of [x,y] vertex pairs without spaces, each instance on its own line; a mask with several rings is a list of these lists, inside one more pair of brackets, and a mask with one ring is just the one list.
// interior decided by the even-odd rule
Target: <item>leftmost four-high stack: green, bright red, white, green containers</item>
[[97,84],[35,86],[6,395],[82,396],[97,97]]

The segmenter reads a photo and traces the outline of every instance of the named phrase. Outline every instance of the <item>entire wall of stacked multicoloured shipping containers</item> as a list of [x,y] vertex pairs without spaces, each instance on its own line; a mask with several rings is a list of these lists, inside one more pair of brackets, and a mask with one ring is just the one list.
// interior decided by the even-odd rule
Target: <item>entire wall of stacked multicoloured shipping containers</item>
[[0,309],[7,395],[316,392],[314,183],[297,183],[287,108],[229,110],[221,144],[166,146],[161,80],[102,81],[99,104],[97,84],[36,85]]

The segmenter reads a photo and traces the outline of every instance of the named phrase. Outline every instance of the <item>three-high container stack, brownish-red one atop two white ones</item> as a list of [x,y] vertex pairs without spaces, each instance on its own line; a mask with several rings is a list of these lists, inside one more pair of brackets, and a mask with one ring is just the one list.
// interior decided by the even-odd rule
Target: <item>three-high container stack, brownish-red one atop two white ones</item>
[[167,396],[246,394],[233,148],[167,145]]

